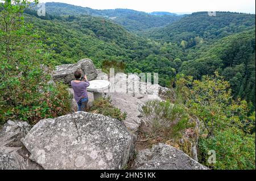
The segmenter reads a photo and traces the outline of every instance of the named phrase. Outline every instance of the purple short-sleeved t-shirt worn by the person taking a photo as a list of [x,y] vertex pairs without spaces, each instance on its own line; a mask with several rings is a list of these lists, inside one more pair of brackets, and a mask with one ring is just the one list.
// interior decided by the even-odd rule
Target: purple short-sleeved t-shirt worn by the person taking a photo
[[90,83],[88,81],[75,82],[71,81],[71,86],[74,90],[75,100],[78,103],[81,98],[88,98],[86,87],[88,87]]

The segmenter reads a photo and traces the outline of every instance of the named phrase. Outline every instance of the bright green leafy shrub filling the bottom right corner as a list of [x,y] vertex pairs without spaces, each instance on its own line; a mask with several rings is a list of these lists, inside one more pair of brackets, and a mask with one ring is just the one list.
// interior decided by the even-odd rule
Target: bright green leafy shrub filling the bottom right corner
[[[240,129],[220,131],[215,137],[199,140],[200,162],[213,169],[255,169],[255,133],[246,134]],[[209,164],[209,150],[216,151],[216,164]]]

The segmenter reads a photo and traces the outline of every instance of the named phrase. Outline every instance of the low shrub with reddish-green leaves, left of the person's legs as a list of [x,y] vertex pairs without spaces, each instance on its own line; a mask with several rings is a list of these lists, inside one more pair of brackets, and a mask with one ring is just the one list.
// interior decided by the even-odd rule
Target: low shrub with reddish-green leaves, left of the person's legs
[[[0,120],[4,124],[7,120],[24,120],[36,124],[39,120],[65,115],[71,111],[70,95],[67,86],[57,83],[44,87],[44,90],[30,91],[31,87],[19,85],[16,94],[3,100],[0,104]],[[23,90],[23,91],[21,91]],[[14,102],[9,104],[8,102]]]

